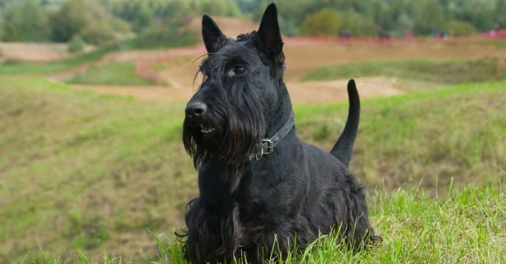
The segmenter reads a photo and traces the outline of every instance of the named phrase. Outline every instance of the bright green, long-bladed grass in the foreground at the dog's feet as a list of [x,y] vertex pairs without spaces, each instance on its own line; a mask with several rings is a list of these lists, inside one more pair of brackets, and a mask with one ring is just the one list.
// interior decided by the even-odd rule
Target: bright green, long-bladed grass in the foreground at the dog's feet
[[[339,244],[336,235],[324,235],[304,251],[291,253],[279,263],[502,263],[506,261],[506,194],[501,186],[449,187],[448,195],[433,199],[418,188],[373,196],[371,217],[383,243],[352,253]],[[161,234],[153,237],[159,250],[151,263],[187,263],[181,243],[170,242]],[[276,250],[276,249],[275,249]],[[97,263],[76,253],[75,263]],[[58,257],[27,254],[17,263],[38,260],[61,263]],[[269,262],[274,262],[274,258]],[[98,262],[127,263],[128,259],[103,255]],[[37,261],[36,261],[37,262]],[[133,261],[134,263],[142,261]],[[237,257],[234,263],[246,263]]]

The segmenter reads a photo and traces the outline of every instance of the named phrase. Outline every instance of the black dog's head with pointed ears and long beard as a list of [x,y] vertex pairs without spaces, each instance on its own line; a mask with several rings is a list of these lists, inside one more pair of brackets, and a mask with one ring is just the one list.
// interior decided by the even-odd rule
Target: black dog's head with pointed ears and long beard
[[280,100],[284,55],[276,6],[267,8],[258,31],[237,39],[204,15],[202,37],[204,80],[186,106],[183,143],[195,167],[209,155],[244,164],[258,151],[269,109]]

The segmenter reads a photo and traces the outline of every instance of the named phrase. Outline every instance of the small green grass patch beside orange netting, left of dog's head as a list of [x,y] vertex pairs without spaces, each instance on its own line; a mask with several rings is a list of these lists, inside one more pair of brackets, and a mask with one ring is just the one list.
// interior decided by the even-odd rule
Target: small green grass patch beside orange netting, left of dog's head
[[155,83],[135,74],[133,62],[109,62],[91,66],[76,75],[69,83],[95,85],[153,85]]

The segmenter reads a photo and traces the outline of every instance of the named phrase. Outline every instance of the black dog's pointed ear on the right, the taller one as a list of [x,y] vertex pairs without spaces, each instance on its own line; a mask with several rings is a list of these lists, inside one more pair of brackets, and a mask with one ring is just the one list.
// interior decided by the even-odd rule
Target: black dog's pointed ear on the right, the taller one
[[[283,51],[283,41],[278,24],[278,11],[274,3],[270,4],[264,12],[258,30],[259,51],[271,61],[280,61]],[[282,63],[282,60],[281,60]]]

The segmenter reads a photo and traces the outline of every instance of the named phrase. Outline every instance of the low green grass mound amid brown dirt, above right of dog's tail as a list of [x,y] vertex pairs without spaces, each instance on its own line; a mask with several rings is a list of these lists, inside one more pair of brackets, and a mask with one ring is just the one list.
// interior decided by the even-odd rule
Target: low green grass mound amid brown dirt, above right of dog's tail
[[345,79],[349,76],[396,76],[437,83],[502,80],[506,78],[506,63],[503,60],[483,58],[362,61],[322,67],[308,73],[302,80]]

